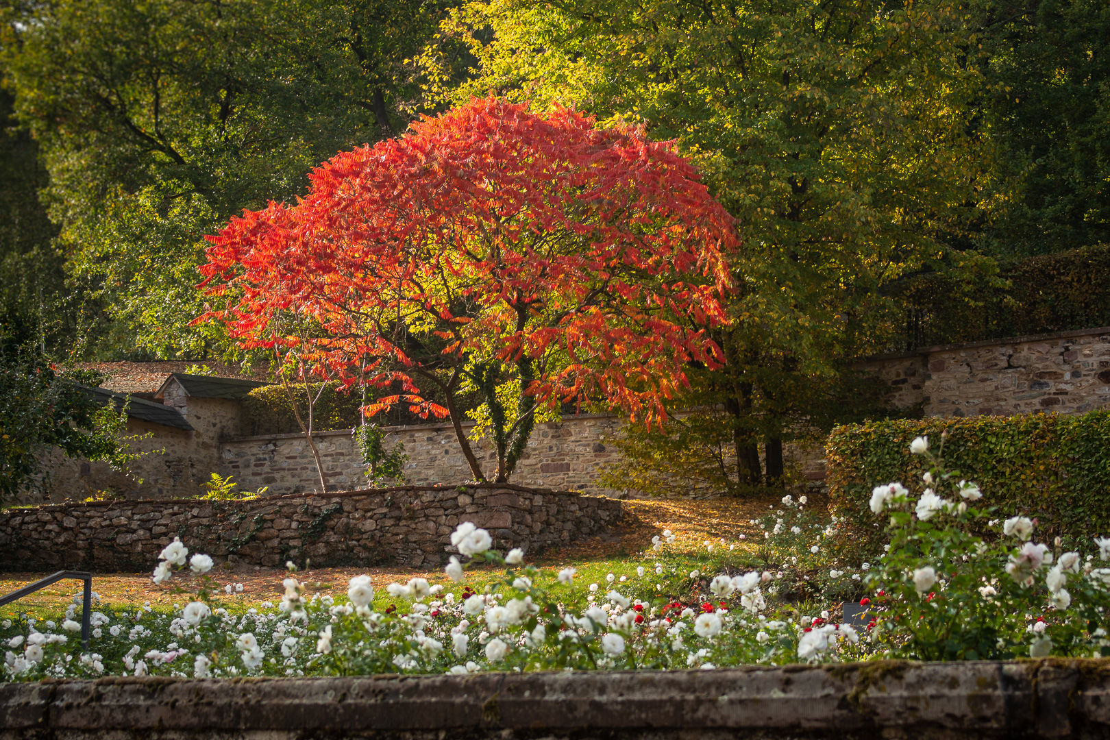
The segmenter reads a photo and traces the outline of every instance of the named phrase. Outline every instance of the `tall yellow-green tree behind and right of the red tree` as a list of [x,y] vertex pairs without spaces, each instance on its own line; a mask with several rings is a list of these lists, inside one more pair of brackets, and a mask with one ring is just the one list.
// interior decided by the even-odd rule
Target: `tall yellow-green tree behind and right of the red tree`
[[976,263],[944,241],[977,214],[989,154],[969,20],[948,0],[474,0],[447,30],[480,60],[454,94],[643,122],[737,217],[728,364],[698,401],[725,409],[736,476],[758,483],[758,446],[774,476],[791,417],[888,343],[884,285]]

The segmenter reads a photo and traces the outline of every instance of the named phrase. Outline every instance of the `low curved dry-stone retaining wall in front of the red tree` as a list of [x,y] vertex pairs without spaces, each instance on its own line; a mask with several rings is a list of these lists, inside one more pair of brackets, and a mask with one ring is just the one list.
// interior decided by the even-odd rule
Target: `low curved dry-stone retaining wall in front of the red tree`
[[512,485],[12,508],[0,511],[0,570],[148,570],[174,536],[218,562],[436,567],[460,521],[488,529],[504,553],[574,541],[622,513],[610,498]]

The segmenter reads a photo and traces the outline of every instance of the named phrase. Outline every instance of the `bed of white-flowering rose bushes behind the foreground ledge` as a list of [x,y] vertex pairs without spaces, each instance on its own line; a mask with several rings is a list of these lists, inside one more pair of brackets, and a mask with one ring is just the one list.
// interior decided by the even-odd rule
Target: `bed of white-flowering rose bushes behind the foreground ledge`
[[[73,639],[77,605],[58,620],[4,620],[2,675],[465,673],[1110,655],[1110,538],[1087,553],[1037,543],[1036,523],[1003,518],[989,507],[989,491],[946,470],[927,439],[912,449],[929,463],[922,490],[892,483],[872,491],[889,538],[875,564],[838,561],[828,545],[839,521],[787,496],[759,523],[754,554],[751,543],[706,543],[720,556],[712,561],[725,566],[719,572],[676,572],[680,564],[666,551],[674,536],[665,531],[646,565],[608,574],[604,584],[579,582],[574,568],[542,571],[516,549],[503,557],[490,549],[487,531],[464,523],[452,536],[460,555],[445,568],[450,588],[417,577],[375,589],[356,576],[341,602],[310,596],[292,572],[279,604],[236,611],[219,602],[211,559],[190,558],[174,541],[153,579],[191,569],[194,600],[172,614],[149,606],[97,611],[89,652]],[[983,521],[997,537],[975,534]],[[736,568],[741,561],[749,567]],[[765,567],[753,569],[758,561]],[[480,592],[458,585],[475,564],[505,567],[505,575]],[[660,581],[687,590],[665,597]],[[846,596],[862,597],[866,625],[837,620]]]

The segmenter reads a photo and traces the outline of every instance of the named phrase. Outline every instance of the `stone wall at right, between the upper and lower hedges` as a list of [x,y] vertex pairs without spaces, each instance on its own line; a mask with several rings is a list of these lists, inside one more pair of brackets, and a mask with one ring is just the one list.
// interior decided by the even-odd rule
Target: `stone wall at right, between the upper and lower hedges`
[[857,365],[926,416],[1081,414],[1110,407],[1110,326],[927,347]]

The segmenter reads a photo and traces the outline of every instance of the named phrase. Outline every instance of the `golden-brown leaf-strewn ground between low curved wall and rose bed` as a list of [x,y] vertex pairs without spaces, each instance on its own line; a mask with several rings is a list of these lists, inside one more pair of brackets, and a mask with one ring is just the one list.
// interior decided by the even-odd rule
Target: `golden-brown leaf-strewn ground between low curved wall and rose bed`
[[[629,516],[606,535],[593,537],[571,547],[549,549],[535,561],[543,567],[564,567],[579,565],[592,560],[619,559],[643,553],[654,535],[669,529],[676,536],[676,546],[683,550],[694,550],[704,546],[705,540],[739,541],[758,531],[757,526],[749,524],[767,513],[768,507],[777,503],[770,498],[758,499],[629,499],[625,501]],[[155,554],[151,554],[151,569],[155,565]],[[264,600],[281,598],[281,580],[284,571],[275,568],[259,568],[239,566],[231,570],[218,570],[216,579],[221,585],[242,584],[243,590],[234,598],[245,602],[259,604]],[[313,568],[302,571],[299,578],[314,586],[314,590],[345,591],[352,576],[370,574],[375,584],[393,580],[407,580],[422,576],[433,582],[444,579],[442,570],[416,570],[401,567],[347,567],[347,568]],[[10,592],[20,586],[41,578],[47,574],[12,572],[0,574],[0,594]],[[188,596],[190,576],[174,577],[175,581],[155,586],[151,582],[150,572],[97,575],[93,578],[93,590],[101,599],[110,604],[142,605],[180,604]],[[70,602],[73,594],[80,591],[78,581],[61,581],[33,596],[20,600],[21,605],[41,607],[59,607]],[[9,605],[3,614],[18,610],[17,605]]]

